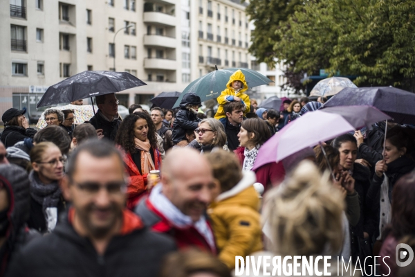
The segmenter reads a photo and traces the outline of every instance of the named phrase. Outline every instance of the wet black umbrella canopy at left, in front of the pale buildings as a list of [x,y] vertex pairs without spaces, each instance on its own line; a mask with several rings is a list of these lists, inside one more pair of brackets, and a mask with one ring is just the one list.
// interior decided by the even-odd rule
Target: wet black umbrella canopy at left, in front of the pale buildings
[[84,71],[50,86],[36,107],[73,102],[146,85],[127,72]]

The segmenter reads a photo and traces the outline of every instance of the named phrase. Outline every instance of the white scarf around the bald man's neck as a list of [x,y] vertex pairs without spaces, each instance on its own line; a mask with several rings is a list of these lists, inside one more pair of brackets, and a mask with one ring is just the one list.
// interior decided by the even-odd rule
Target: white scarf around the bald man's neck
[[178,228],[183,229],[194,226],[194,229],[196,229],[208,242],[210,248],[215,249],[213,233],[209,228],[205,217],[202,215],[198,222],[193,222],[190,216],[184,215],[172,202],[170,202],[169,199],[167,199],[167,197],[165,197],[165,195],[163,195],[161,191],[162,187],[162,184],[158,184],[151,190],[149,201],[153,204],[154,208],[160,213],[163,213],[167,220]]

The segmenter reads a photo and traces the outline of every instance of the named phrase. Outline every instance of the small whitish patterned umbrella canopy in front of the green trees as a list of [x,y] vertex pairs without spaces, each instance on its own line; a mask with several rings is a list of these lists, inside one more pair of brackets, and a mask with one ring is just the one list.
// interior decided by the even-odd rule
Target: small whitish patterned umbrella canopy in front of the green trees
[[333,96],[345,87],[357,88],[349,78],[331,77],[317,82],[313,90],[310,91],[310,96]]

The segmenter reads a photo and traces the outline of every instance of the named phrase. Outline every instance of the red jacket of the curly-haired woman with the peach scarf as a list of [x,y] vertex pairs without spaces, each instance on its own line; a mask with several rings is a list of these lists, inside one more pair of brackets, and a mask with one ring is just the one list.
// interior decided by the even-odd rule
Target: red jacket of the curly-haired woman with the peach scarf
[[[154,167],[160,170],[161,156],[157,149],[151,148],[154,151]],[[127,208],[132,210],[138,203],[138,200],[147,188],[147,174],[140,175],[140,171],[134,163],[130,153],[124,154],[125,171],[129,175],[129,184],[127,185]]]

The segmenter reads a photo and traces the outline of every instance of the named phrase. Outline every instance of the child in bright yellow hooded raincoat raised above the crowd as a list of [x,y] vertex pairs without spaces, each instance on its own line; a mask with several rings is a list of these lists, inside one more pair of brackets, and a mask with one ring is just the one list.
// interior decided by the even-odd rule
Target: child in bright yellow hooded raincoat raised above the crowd
[[241,101],[245,105],[243,109],[243,116],[250,110],[250,100],[248,94],[243,93],[248,90],[248,84],[245,81],[245,75],[239,69],[235,71],[229,78],[228,84],[226,84],[226,89],[222,91],[221,95],[216,98],[219,103],[218,111],[214,115],[214,118],[221,120],[221,118],[226,118],[225,112],[223,111],[223,105],[230,101]]

